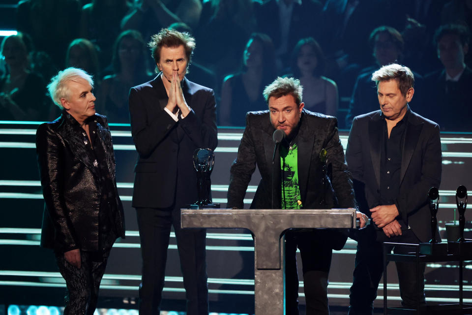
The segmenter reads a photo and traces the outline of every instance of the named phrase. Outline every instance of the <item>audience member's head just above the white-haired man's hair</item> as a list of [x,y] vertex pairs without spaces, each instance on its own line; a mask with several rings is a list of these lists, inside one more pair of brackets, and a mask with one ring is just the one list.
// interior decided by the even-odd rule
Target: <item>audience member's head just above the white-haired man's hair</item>
[[85,70],[93,77],[95,86],[99,82],[100,66],[97,49],[88,39],[77,38],[69,44],[65,57],[65,67]]

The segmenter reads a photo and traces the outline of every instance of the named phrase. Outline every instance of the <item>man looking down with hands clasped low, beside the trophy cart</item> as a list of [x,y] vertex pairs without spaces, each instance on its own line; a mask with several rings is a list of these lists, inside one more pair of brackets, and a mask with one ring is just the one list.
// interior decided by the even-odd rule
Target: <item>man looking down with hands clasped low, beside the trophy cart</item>
[[[389,64],[374,72],[372,80],[380,110],[354,118],[346,150],[359,210],[375,223],[353,235],[357,252],[350,315],[372,314],[383,273],[384,241],[417,244],[431,239],[427,195],[441,182],[439,126],[408,106],[414,94],[412,71]],[[401,248],[394,251],[402,253]],[[416,282],[415,268],[411,263],[396,266],[402,304],[424,304],[424,281]]]

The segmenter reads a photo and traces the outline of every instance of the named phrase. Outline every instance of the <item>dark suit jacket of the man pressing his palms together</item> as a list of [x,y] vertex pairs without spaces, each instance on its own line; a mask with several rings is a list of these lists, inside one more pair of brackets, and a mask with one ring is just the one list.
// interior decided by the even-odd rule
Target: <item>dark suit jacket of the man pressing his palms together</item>
[[135,167],[133,207],[167,208],[197,200],[193,153],[217,145],[216,104],[213,90],[182,81],[192,109],[178,122],[164,110],[168,96],[161,76],[129,92],[131,133],[139,158]]

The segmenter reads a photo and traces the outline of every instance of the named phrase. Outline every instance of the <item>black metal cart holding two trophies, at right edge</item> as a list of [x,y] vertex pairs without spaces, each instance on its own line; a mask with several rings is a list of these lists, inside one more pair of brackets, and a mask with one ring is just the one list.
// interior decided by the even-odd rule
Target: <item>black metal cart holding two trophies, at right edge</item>
[[[437,213],[439,209],[439,190],[433,187],[429,190],[429,208],[431,211],[431,240],[429,243],[400,244],[383,243],[383,314],[472,314],[472,305],[463,302],[463,269],[464,261],[472,260],[472,240],[464,238],[465,211],[467,206],[467,189],[459,186],[456,190],[456,204],[459,212],[459,233],[456,238],[450,238],[448,242],[440,242],[436,239]],[[452,230],[450,230],[452,231]],[[447,231],[449,232],[449,230]],[[403,247],[411,250],[410,254],[392,253],[393,247]],[[387,273],[386,267],[389,261],[412,262],[415,264],[417,283],[420,283],[420,264],[429,262],[458,262],[459,263],[459,303],[440,305],[418,305],[416,309],[388,308],[387,301]],[[417,294],[421,292],[418,285]]]

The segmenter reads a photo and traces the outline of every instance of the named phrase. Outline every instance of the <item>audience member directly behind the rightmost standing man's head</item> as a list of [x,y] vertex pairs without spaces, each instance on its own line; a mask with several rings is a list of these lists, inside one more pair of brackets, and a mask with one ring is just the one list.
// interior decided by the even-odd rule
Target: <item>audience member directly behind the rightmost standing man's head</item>
[[[401,62],[403,57],[403,37],[397,30],[389,26],[381,26],[372,31],[369,36],[369,44],[372,48],[372,56],[376,64],[363,69],[357,76],[351,102],[349,103],[349,112],[346,115],[346,127],[348,129],[351,128],[355,116],[369,113],[379,108],[376,86],[371,80],[372,73],[384,65]],[[416,85],[415,90],[418,90],[417,86],[418,83],[419,85],[421,84],[422,78],[414,71],[413,75]],[[418,93],[418,96],[421,95]],[[414,104],[421,104],[421,102],[415,99]],[[412,106],[413,104],[410,105]]]

